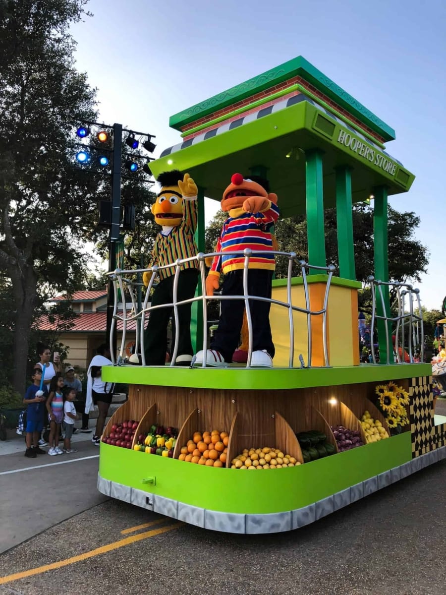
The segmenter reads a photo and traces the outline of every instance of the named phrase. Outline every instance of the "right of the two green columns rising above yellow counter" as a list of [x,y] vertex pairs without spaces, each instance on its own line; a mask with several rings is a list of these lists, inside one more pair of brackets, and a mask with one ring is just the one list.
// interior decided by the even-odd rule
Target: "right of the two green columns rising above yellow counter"
[[351,168],[336,170],[336,221],[340,277],[356,280],[354,271],[353,217],[351,214]]

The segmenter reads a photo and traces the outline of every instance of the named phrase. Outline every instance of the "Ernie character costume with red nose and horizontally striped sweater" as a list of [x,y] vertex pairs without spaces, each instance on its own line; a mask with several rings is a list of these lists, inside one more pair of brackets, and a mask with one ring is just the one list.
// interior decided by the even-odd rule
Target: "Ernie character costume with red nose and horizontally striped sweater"
[[[249,259],[249,295],[271,299],[272,275],[275,270],[271,229],[279,217],[277,195],[269,193],[268,182],[257,176],[244,179],[241,174],[231,177],[225,189],[221,208],[228,212],[216,245],[211,270],[206,278],[206,295],[213,295],[219,287],[220,274],[224,274],[222,296],[243,295],[243,254],[235,250],[262,250]],[[270,303],[249,300],[252,319],[252,366],[272,367],[274,344],[269,325]],[[211,349],[206,352],[206,364],[224,366],[233,361],[233,353],[240,341],[243,323],[244,300],[221,300],[221,315]],[[204,352],[196,354],[195,364],[203,364]]]

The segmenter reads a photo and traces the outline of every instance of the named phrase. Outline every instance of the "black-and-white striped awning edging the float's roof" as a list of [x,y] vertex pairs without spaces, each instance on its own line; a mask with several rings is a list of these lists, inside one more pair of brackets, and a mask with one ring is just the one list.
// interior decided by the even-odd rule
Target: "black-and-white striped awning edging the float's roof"
[[302,102],[302,101],[307,101],[307,102],[309,102],[309,104],[314,105],[315,108],[322,111],[325,115],[328,115],[329,118],[332,118],[332,120],[337,121],[338,124],[341,124],[341,126],[343,126],[344,128],[347,128],[348,130],[353,132],[353,134],[355,134],[355,136],[359,136],[366,143],[375,147],[377,149],[377,151],[380,151],[381,153],[383,153],[384,155],[386,155],[387,157],[389,157],[390,159],[392,159],[399,165],[403,165],[400,161],[398,161],[398,159],[395,159],[394,157],[389,155],[387,152],[383,151],[379,145],[376,145],[368,137],[364,136],[362,133],[360,133],[353,127],[346,124],[344,122],[344,120],[341,120],[341,118],[338,118],[336,115],[332,114],[332,112],[329,111],[328,109],[323,108],[322,105],[319,105],[318,103],[316,103],[316,101],[313,101],[313,99],[310,99],[309,97],[304,95],[304,93],[299,93],[299,95],[293,95],[292,97],[290,97],[288,99],[284,99],[284,101],[277,102],[277,104],[268,105],[268,107],[266,107],[266,108],[260,108],[256,112],[252,112],[251,114],[242,116],[241,118],[238,118],[237,120],[233,120],[232,122],[226,122],[217,128],[214,128],[212,130],[208,130],[207,132],[204,132],[203,134],[197,134],[197,136],[194,136],[193,138],[188,139],[188,140],[184,140],[184,142],[178,143],[178,145],[174,145],[174,146],[169,147],[168,149],[164,149],[164,151],[160,155],[160,158],[165,157],[166,155],[171,155],[172,153],[175,153],[177,151],[181,151],[182,149],[187,149],[188,147],[190,147],[192,145],[196,145],[197,143],[203,142],[203,140],[212,139],[212,137],[218,136],[218,134],[224,134],[228,130],[234,130],[234,128],[238,128],[239,126],[243,126],[244,124],[248,124],[249,122],[252,122],[254,120],[259,120],[260,118],[263,118],[266,115],[274,114],[275,112],[277,112],[281,109],[289,108],[289,107],[291,107],[291,105],[300,104],[300,102]]

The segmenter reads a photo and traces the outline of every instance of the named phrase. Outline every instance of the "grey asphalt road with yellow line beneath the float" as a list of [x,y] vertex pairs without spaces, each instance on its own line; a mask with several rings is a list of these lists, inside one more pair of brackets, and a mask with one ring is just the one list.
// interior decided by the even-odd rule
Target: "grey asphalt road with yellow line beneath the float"
[[[55,497],[65,499],[74,515],[54,519],[54,526],[0,556],[0,595],[446,593],[446,461],[308,527],[269,536],[205,531],[116,500],[100,502],[97,465],[98,459],[86,459],[37,476],[0,475],[2,483],[21,477],[15,499],[35,492],[33,503],[45,515]],[[70,477],[83,477],[76,493]],[[77,514],[76,501],[87,508],[88,498],[93,507]],[[37,508],[24,515],[19,503],[14,506],[16,524],[38,514]],[[1,511],[4,533],[11,525],[6,519],[5,527],[3,505]],[[29,569],[36,574],[12,580]]]

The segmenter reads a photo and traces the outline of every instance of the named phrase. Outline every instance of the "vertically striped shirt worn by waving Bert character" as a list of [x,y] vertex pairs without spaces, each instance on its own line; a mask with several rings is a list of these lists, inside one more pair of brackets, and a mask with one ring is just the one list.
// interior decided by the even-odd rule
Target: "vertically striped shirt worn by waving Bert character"
[[[195,243],[194,233],[197,228],[197,199],[188,199],[183,196],[183,221],[164,236],[161,232],[156,236],[155,246],[152,250],[152,258],[149,267],[171,264],[177,258],[190,258],[196,256],[198,248]],[[158,271],[159,280],[175,274],[176,267],[169,267]],[[184,262],[180,266],[183,271],[186,268],[198,268],[197,261]]]

